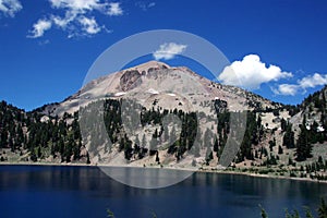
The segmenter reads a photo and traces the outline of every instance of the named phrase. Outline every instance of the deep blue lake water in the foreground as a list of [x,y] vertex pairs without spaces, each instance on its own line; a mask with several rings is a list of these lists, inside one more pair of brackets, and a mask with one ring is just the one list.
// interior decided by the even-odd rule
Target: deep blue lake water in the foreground
[[327,197],[327,184],[194,173],[173,186],[130,187],[97,167],[0,166],[0,217],[284,217]]

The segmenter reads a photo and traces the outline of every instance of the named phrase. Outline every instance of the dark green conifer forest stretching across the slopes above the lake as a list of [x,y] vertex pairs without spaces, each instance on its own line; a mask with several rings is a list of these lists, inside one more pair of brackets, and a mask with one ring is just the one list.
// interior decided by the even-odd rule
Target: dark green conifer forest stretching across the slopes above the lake
[[[324,145],[327,141],[327,117],[326,117],[326,87],[313,95],[310,95],[301,105],[281,106],[278,109],[266,108],[247,111],[246,128],[240,150],[235,156],[231,170],[244,162],[242,171],[255,173],[274,172],[279,175],[310,177],[312,179],[326,179],[327,160],[324,156],[314,158],[313,148],[315,145]],[[83,113],[90,112],[88,120],[83,122],[93,123],[86,130],[92,135],[89,147],[97,147],[104,142],[96,135],[97,119],[104,119],[106,132],[111,144],[105,147],[106,152],[111,152],[118,147],[124,154],[128,161],[143,159],[153,156],[157,164],[160,164],[159,150],[155,146],[160,138],[172,137],[177,131],[168,129],[162,124],[162,119],[167,114],[177,116],[181,121],[181,132],[179,138],[167,145],[166,153],[175,158],[177,161],[192,154],[194,158],[201,156],[201,150],[205,150],[205,166],[210,166],[215,157],[220,158],[227,140],[230,134],[230,116],[223,100],[213,100],[211,105],[217,114],[216,126],[211,130],[198,129],[198,116],[201,112],[184,112],[182,110],[167,110],[155,107],[140,110],[141,125],[156,126],[148,138],[129,138],[122,124],[121,100],[107,99],[101,101],[104,112],[97,111],[99,102],[93,102],[81,108]],[[251,102],[249,102],[251,104]],[[280,129],[267,129],[263,123],[263,113],[272,112],[279,116],[281,111],[288,111],[290,116],[300,114],[302,122],[298,129],[289,119],[281,118]],[[15,161],[48,161],[48,162],[78,162],[90,164],[92,157],[86,149],[87,142],[83,142],[78,112],[73,114],[63,113],[61,117],[44,114],[41,109],[25,112],[5,101],[0,102],[0,160],[8,162]],[[81,111],[80,111],[81,112]],[[320,114],[319,120],[313,119],[314,114]],[[311,122],[308,122],[311,120]],[[267,124],[266,124],[267,125]],[[215,131],[213,131],[215,129]],[[213,132],[216,132],[214,134]],[[278,144],[278,137],[281,141]],[[199,137],[199,138],[196,138]],[[98,138],[98,140],[97,140]],[[193,146],[199,140],[198,146]],[[162,140],[161,140],[162,141]],[[88,152],[87,152],[88,150]],[[288,157],[287,160],[284,157]],[[310,161],[308,161],[310,160]],[[198,162],[197,162],[198,164]],[[193,164],[196,166],[196,161]],[[283,169],[288,166],[288,169]],[[276,168],[279,167],[279,168]]]

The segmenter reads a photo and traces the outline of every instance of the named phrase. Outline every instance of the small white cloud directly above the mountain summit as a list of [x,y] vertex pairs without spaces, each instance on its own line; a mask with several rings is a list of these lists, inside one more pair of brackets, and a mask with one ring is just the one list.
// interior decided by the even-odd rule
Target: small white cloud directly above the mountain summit
[[173,59],[177,55],[181,55],[185,51],[186,45],[169,43],[160,45],[159,49],[154,52],[154,58],[156,60],[170,60]]

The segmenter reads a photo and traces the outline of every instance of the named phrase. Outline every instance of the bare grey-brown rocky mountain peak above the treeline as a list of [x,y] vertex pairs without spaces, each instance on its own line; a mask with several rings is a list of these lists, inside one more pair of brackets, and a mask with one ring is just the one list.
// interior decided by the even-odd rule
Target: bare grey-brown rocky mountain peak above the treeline
[[[244,89],[214,83],[185,66],[172,68],[162,62],[149,61],[94,80],[59,105],[46,107],[44,113],[62,116],[64,112],[77,111],[80,106],[94,99],[104,97],[118,99],[126,96],[142,100],[153,97],[159,99],[158,105],[162,108],[185,109],[185,107],[181,107],[183,99],[181,99],[181,104],[171,101],[175,97],[174,95],[180,94],[192,96],[192,101],[197,102],[192,104],[195,110],[204,109],[199,102],[215,98],[227,101],[232,110],[280,107],[280,104],[271,102]],[[143,104],[148,102],[144,101]]]

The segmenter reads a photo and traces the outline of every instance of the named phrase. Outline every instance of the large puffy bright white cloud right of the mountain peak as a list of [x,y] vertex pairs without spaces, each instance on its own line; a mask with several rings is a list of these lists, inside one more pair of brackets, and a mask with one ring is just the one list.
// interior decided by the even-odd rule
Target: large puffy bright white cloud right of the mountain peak
[[291,77],[292,73],[282,71],[279,66],[261,61],[257,55],[249,55],[242,61],[234,61],[226,66],[218,80],[222,84],[259,88],[261,84],[280,78]]

